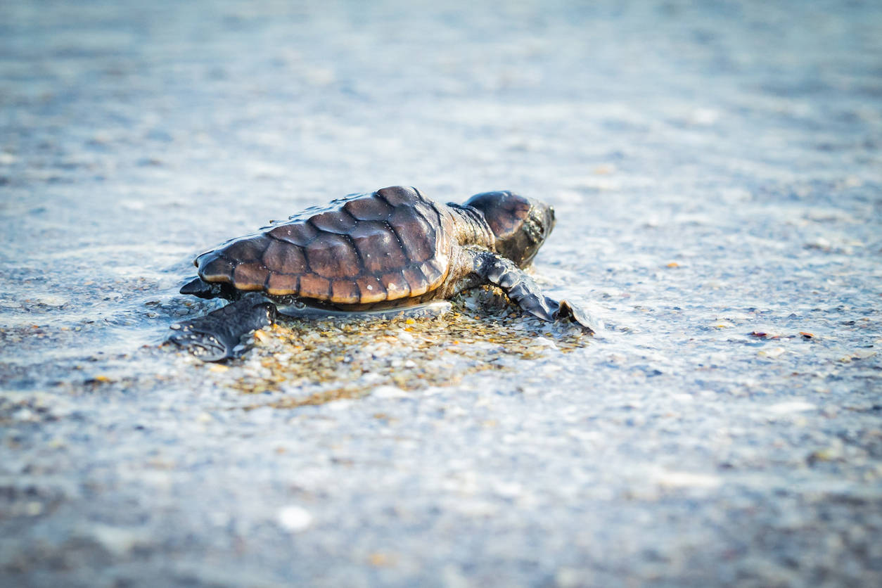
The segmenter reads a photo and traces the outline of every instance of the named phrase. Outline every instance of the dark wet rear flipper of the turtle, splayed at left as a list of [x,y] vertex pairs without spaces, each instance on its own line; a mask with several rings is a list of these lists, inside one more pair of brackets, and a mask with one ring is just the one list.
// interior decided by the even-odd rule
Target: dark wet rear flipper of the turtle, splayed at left
[[213,310],[206,316],[172,324],[168,340],[203,361],[224,361],[239,357],[248,347],[243,339],[251,331],[273,324],[275,305],[243,298]]

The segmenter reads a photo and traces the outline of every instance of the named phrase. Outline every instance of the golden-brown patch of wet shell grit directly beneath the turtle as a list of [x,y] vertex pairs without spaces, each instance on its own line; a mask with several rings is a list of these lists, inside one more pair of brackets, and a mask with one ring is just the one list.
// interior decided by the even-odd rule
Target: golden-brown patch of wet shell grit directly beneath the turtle
[[510,318],[510,311],[504,294],[483,288],[433,318],[285,320],[258,331],[243,360],[208,365],[206,376],[232,379],[245,394],[273,395],[246,410],[295,408],[362,398],[383,386],[409,392],[455,385],[478,372],[512,369],[512,360],[572,352],[589,340],[575,327]]

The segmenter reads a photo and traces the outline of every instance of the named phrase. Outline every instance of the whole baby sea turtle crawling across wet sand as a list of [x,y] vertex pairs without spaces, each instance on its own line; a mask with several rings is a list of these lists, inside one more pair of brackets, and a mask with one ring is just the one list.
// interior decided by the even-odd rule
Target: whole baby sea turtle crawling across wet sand
[[[242,354],[242,339],[289,316],[419,314],[468,288],[492,284],[546,321],[588,316],[545,296],[527,267],[554,227],[554,209],[510,191],[443,205],[393,186],[333,200],[198,256],[181,294],[227,306],[180,324],[169,338],[206,361]],[[449,303],[446,303],[449,307]]]

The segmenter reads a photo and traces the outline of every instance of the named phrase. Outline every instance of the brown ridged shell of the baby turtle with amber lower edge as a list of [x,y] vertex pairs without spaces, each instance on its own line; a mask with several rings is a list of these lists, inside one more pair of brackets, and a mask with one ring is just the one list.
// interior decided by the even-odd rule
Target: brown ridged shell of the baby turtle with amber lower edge
[[334,200],[203,253],[199,277],[335,304],[422,296],[450,268],[450,213],[414,188]]

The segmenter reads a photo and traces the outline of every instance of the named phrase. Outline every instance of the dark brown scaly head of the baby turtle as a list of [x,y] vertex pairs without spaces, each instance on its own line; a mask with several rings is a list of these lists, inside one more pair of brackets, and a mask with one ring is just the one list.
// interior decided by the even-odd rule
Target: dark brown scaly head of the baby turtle
[[554,228],[554,209],[505,190],[475,194],[466,201],[481,212],[496,236],[497,253],[527,267]]

